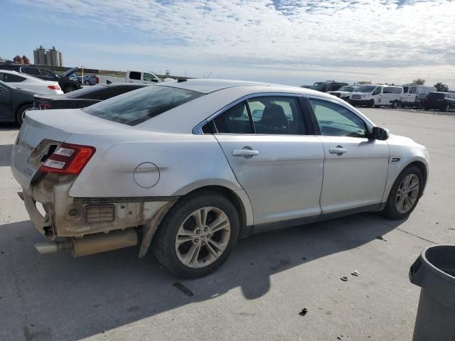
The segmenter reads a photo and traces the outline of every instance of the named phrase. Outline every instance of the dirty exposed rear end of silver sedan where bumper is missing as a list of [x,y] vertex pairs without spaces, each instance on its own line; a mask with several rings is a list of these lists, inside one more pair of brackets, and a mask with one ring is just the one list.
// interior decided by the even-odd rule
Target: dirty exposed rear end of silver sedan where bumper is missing
[[[156,227],[178,199],[178,197],[75,198],[69,195],[74,180],[72,176],[48,175],[39,183],[31,185],[28,190],[18,193],[23,198],[31,222],[43,236],[50,239],[66,237],[70,242],[73,239],[80,239],[82,242],[82,239],[87,240],[89,237],[92,239],[95,235],[107,236],[112,231],[142,226],[144,238],[140,255],[144,256]],[[43,210],[38,209],[38,204],[43,206]],[[98,237],[98,242],[101,240]],[[92,243],[95,244],[97,242]],[[100,250],[102,251],[102,248]]]

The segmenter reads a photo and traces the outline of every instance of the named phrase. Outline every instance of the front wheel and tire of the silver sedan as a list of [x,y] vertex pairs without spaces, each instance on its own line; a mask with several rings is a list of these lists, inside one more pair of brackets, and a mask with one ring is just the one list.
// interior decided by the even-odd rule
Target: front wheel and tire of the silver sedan
[[[406,182],[408,176],[411,179],[410,183],[408,183],[409,186],[412,186],[412,184],[415,183],[416,180],[418,180],[418,184],[417,188],[406,193],[407,190]],[[412,188],[414,188],[414,186],[412,186]],[[392,220],[401,220],[409,217],[409,215],[419,202],[423,188],[424,180],[422,172],[419,170],[419,168],[417,166],[408,166],[407,168],[405,168],[400,173],[400,175],[398,175],[397,180],[395,180],[395,183],[393,184],[392,189],[390,190],[389,197],[387,198],[387,203],[385,205],[385,209],[382,211],[383,215]],[[405,196],[399,195],[399,190],[401,193],[403,193],[404,190]],[[408,197],[409,199],[406,199],[405,197]],[[414,201],[412,202],[412,200]],[[403,202],[402,205],[400,205],[401,202]],[[411,202],[412,205],[410,205]],[[402,210],[400,210],[400,206],[402,207]]]

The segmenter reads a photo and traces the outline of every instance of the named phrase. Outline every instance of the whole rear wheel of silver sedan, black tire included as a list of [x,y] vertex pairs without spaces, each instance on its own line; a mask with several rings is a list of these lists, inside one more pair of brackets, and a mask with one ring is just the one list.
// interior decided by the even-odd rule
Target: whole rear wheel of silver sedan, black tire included
[[[197,212],[206,217],[204,230],[196,221]],[[222,222],[215,227],[226,227],[210,235],[207,228],[216,220]],[[185,242],[177,244],[179,234]],[[239,216],[232,202],[223,195],[205,191],[184,197],[171,207],[156,232],[153,250],[159,262],[176,276],[198,278],[212,273],[228,259],[239,234]],[[191,253],[192,250],[196,252]]]

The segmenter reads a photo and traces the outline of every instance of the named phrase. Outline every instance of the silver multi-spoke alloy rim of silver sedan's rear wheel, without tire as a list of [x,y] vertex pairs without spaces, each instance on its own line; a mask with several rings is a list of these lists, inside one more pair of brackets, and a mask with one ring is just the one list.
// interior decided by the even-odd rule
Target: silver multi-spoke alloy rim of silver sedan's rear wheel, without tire
[[217,207],[202,207],[188,215],[176,235],[176,254],[189,268],[203,268],[216,261],[230,240],[228,215]]

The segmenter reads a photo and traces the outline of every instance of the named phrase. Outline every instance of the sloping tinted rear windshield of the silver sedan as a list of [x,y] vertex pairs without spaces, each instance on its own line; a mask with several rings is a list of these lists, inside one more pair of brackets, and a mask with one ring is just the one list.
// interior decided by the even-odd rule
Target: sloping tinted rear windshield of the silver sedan
[[83,111],[102,119],[135,126],[202,95],[196,91],[152,85],[107,99]]

